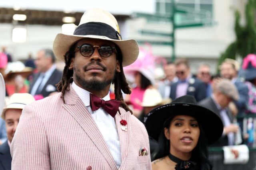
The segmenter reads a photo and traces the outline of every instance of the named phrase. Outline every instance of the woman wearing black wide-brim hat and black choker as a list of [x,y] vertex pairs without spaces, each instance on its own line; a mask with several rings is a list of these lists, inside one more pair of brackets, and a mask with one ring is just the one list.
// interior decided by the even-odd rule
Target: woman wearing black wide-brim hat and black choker
[[158,141],[152,170],[211,170],[207,145],[223,133],[218,115],[198,106],[193,96],[182,96],[157,107],[144,119],[148,135]]

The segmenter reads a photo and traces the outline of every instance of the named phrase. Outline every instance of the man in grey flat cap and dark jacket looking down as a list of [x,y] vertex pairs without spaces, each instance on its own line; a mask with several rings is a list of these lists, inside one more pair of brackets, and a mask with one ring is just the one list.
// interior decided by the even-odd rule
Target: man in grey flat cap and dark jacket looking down
[[217,113],[222,119],[224,130],[222,137],[214,143],[214,147],[222,147],[234,145],[234,135],[238,131],[238,125],[233,124],[233,116],[228,109],[228,104],[232,101],[238,100],[238,91],[230,80],[220,80],[213,89],[214,92],[211,97],[206,98],[199,102],[200,106],[206,107]]

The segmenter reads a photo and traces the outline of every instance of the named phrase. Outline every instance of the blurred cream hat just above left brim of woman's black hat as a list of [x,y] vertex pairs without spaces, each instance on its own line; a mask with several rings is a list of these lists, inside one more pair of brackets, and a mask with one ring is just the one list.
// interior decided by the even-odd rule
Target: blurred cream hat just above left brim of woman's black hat
[[152,107],[162,104],[170,103],[170,99],[162,99],[160,92],[155,88],[148,88],[144,92],[143,100],[141,103],[142,107]]

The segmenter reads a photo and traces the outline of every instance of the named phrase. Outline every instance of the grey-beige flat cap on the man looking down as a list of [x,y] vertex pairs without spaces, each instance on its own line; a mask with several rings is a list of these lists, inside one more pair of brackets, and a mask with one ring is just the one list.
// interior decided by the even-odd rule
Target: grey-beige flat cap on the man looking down
[[228,79],[222,79],[216,84],[216,91],[229,96],[232,100],[238,100],[239,94],[236,86]]

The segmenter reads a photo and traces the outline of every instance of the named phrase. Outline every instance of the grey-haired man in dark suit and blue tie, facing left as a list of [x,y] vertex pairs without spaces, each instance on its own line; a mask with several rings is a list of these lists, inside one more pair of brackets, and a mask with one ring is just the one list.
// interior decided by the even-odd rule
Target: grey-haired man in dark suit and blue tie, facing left
[[62,72],[56,69],[55,56],[51,49],[42,49],[38,51],[36,57],[36,68],[38,73],[34,75],[34,79],[30,85],[29,93],[32,96],[42,95],[49,96],[52,92],[56,92],[56,84],[62,77]]

